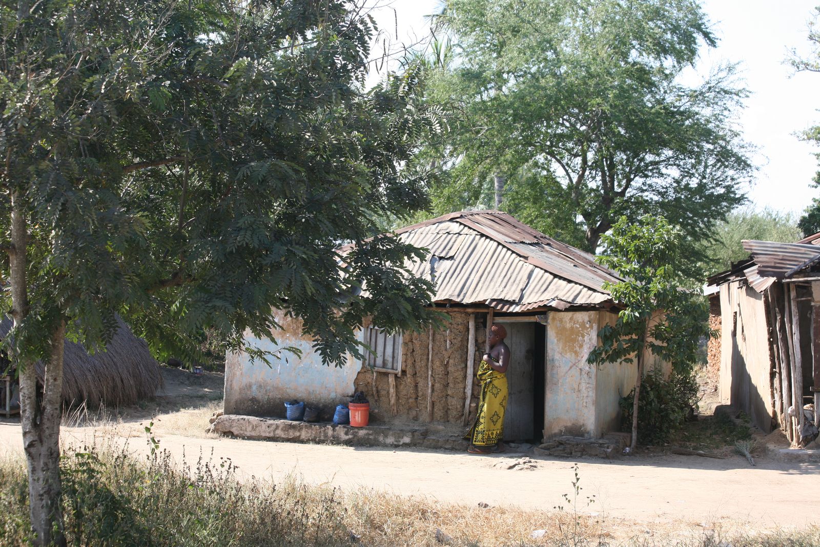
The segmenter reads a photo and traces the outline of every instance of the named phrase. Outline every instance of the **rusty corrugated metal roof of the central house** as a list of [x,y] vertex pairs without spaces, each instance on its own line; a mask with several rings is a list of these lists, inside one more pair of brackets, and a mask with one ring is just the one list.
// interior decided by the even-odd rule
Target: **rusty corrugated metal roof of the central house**
[[436,302],[485,303],[503,312],[599,306],[612,300],[604,282],[620,280],[591,254],[504,212],[452,213],[397,234],[429,249],[425,262],[405,266],[435,282]]

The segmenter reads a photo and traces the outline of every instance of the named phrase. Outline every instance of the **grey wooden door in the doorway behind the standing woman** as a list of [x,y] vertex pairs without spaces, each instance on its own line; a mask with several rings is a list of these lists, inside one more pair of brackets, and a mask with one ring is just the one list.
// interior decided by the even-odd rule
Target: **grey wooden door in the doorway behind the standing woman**
[[[507,413],[504,415],[504,440],[527,440],[535,438],[533,382],[535,323],[504,322],[510,349],[510,365],[507,369]],[[540,438],[540,435],[539,435]]]

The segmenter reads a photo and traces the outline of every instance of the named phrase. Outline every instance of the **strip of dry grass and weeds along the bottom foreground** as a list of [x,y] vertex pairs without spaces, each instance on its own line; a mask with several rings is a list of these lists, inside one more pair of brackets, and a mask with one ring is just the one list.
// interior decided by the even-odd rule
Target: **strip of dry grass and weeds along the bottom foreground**
[[[141,441],[135,441],[141,442]],[[169,454],[134,459],[121,446],[66,449],[66,530],[76,545],[515,545],[528,547],[808,547],[820,528],[772,531],[647,531],[564,511],[465,507],[386,494],[239,481],[230,460],[174,463]],[[30,540],[25,466],[0,459],[0,545]],[[113,508],[108,504],[114,504]],[[534,538],[532,532],[543,530]],[[438,533],[437,533],[438,531]],[[649,533],[647,533],[649,532]]]

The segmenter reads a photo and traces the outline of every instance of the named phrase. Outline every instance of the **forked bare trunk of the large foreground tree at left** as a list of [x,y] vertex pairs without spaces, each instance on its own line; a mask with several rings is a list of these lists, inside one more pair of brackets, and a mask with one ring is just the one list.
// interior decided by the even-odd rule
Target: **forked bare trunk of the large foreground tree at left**
[[[20,194],[11,193],[10,276],[11,317],[21,326],[29,312],[26,279],[28,230]],[[66,324],[60,321],[52,333],[52,348],[45,372],[42,400],[38,400],[34,362],[16,349],[15,366],[20,378],[20,417],[23,448],[29,472],[29,508],[34,545],[66,545],[60,508],[60,399],[62,350]]]

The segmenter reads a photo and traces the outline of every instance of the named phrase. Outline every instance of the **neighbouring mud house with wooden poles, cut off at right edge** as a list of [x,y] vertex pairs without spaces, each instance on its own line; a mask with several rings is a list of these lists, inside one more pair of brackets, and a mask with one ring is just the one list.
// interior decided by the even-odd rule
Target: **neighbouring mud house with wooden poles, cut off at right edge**
[[820,234],[795,244],[744,241],[750,258],[705,287],[709,369],[722,403],[765,432],[807,444],[820,425]]

